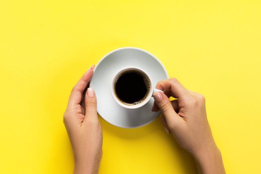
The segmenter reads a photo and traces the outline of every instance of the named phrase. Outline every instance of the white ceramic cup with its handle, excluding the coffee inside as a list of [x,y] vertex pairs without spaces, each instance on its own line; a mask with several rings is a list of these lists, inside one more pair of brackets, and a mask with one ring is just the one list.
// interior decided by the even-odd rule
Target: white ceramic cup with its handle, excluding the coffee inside
[[[130,70],[136,70],[138,72],[140,72],[142,75],[144,75],[146,77],[146,79],[149,81],[149,92],[148,92],[148,95],[145,99],[143,99],[141,102],[139,103],[136,103],[136,104],[129,104],[129,103],[124,103],[123,101],[121,101],[118,97],[117,97],[117,94],[115,93],[115,84],[116,84],[116,81],[118,80],[118,78],[120,77],[120,75],[126,71],[130,71]],[[150,78],[150,76],[143,70],[137,68],[137,67],[126,67],[126,68],[123,68],[121,69],[120,71],[118,71],[114,78],[113,78],[113,81],[111,83],[111,94],[112,94],[112,97],[114,98],[114,100],[122,107],[125,107],[127,109],[136,109],[136,108],[139,108],[139,107],[142,107],[143,105],[145,105],[149,100],[150,98],[152,97],[152,94],[155,93],[155,92],[163,92],[162,90],[160,89],[156,89],[154,87],[152,87],[152,80]]]

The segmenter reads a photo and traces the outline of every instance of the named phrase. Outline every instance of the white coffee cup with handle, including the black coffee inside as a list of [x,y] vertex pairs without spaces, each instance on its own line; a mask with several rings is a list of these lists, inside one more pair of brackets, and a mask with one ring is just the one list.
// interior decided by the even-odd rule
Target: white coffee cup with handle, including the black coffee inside
[[111,94],[122,107],[136,109],[145,105],[152,94],[163,92],[152,87],[150,76],[137,67],[126,67],[118,71],[111,83]]

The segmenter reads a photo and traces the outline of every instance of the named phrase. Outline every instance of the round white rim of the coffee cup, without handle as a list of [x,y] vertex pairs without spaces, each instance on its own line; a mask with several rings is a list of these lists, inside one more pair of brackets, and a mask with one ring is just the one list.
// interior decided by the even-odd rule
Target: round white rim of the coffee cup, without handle
[[[142,73],[144,73],[144,74],[148,77],[148,79],[149,79],[149,81],[150,81],[150,85],[151,85],[151,86],[150,86],[150,91],[149,91],[149,93],[148,93],[147,98],[146,98],[143,102],[138,103],[138,104],[135,104],[135,105],[127,105],[127,104],[122,103],[122,102],[118,99],[118,97],[116,97],[116,94],[115,94],[115,91],[114,91],[114,82],[115,82],[116,78],[118,77],[118,75],[119,75],[120,73],[122,73],[122,72],[124,72],[124,71],[127,71],[127,70],[138,70],[138,71],[141,71]],[[138,67],[134,67],[134,66],[125,67],[125,68],[120,69],[120,70],[115,74],[115,76],[114,76],[114,78],[113,78],[113,80],[112,80],[112,83],[111,83],[111,87],[110,87],[111,95],[112,95],[113,99],[114,99],[119,105],[121,105],[122,107],[125,107],[125,108],[127,108],[127,109],[140,108],[140,107],[144,106],[146,103],[148,103],[148,101],[150,100],[150,98],[151,98],[151,96],[152,96],[152,93],[153,93],[152,84],[153,84],[153,83],[152,83],[151,77],[150,77],[150,76],[148,75],[148,73],[146,73],[144,70],[142,70],[142,69],[140,69],[140,68],[138,68]]]

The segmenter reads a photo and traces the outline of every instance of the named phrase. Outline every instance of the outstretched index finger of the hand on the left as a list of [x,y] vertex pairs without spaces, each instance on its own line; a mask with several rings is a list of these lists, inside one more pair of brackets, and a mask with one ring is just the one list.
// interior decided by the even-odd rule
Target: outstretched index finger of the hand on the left
[[68,106],[73,106],[75,104],[81,103],[83,92],[93,75],[93,68],[94,65],[82,76],[75,87],[73,87],[71,95],[69,97]]

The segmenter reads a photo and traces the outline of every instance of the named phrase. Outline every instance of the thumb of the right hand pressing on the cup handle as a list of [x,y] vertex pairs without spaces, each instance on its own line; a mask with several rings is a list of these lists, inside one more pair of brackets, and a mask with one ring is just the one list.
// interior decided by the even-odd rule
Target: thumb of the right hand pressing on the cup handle
[[168,96],[163,92],[155,92],[153,97],[164,114],[168,125],[170,127],[175,126],[179,122],[180,116],[175,112]]

